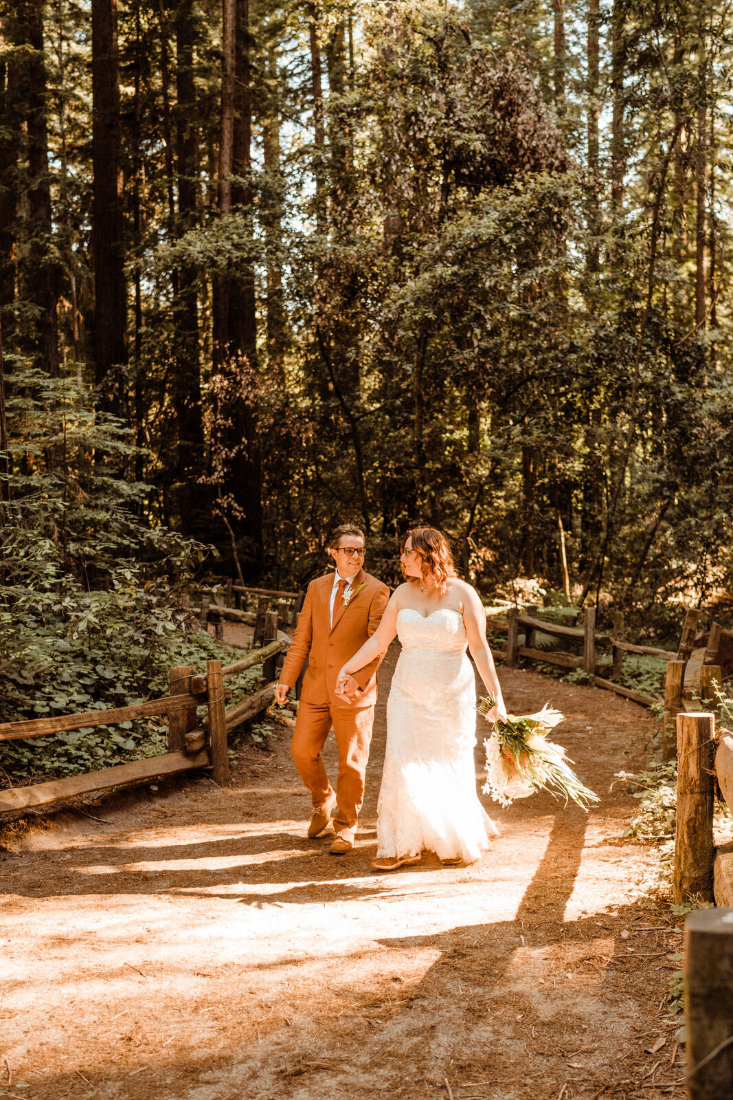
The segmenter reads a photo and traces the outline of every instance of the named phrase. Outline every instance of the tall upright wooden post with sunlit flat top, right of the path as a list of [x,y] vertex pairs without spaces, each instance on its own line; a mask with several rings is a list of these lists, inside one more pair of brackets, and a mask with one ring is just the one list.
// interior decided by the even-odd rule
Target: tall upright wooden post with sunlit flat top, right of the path
[[677,829],[673,897],[712,901],[714,715],[677,715]]

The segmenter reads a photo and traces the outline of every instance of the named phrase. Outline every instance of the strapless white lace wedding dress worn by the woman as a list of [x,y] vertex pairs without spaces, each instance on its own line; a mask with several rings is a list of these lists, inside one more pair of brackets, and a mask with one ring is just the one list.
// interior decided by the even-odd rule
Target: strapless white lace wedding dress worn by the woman
[[377,856],[470,864],[498,832],[476,793],[476,682],[460,612],[397,616],[402,652],[387,701]]

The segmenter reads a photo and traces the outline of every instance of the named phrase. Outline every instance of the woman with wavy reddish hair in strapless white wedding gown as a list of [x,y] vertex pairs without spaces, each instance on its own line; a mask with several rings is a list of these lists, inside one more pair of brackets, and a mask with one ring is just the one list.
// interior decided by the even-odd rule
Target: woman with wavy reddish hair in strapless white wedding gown
[[377,810],[378,871],[419,864],[423,849],[444,864],[470,864],[497,828],[476,793],[476,683],[466,645],[497,703],[487,718],[507,717],[486,640],[478,593],[456,576],[445,536],[434,527],[408,532],[400,553],[404,584],[381,623],[341,669],[347,678],[384,653],[397,635],[402,652],[387,701],[387,751]]

